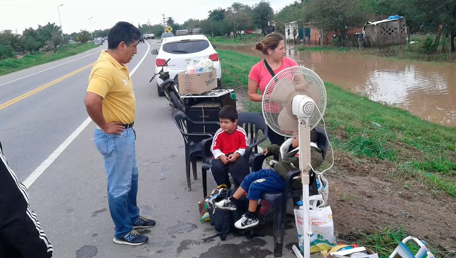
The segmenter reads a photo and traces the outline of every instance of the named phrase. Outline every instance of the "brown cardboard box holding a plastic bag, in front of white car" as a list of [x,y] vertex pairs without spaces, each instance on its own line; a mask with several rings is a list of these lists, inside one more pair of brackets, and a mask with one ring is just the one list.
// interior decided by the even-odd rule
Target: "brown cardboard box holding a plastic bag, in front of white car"
[[217,88],[217,69],[202,73],[177,74],[180,94],[201,94]]

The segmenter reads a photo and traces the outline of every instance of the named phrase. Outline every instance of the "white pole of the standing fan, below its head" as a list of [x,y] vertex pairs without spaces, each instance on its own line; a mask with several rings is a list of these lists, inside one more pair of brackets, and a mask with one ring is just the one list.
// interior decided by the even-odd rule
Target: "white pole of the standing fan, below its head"
[[[299,136],[299,167],[302,171],[302,202],[303,202],[303,252],[304,258],[310,258],[310,235],[311,223],[309,218],[309,171],[311,170],[311,130],[308,120],[299,119],[298,136]],[[296,254],[297,256],[297,254]],[[301,253],[300,253],[301,256]],[[302,257],[302,256],[301,256]],[[298,258],[300,258],[298,256]]]

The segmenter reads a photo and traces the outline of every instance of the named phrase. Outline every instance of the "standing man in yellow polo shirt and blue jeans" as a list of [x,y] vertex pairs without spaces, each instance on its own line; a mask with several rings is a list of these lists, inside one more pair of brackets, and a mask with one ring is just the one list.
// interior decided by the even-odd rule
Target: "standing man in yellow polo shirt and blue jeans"
[[136,54],[140,31],[120,21],[109,30],[108,50],[93,65],[84,103],[97,124],[93,140],[103,155],[108,177],[108,205],[114,221],[114,242],[140,245],[148,238],[134,228],[150,228],[155,221],[140,216],[136,205],[135,94],[128,67]]

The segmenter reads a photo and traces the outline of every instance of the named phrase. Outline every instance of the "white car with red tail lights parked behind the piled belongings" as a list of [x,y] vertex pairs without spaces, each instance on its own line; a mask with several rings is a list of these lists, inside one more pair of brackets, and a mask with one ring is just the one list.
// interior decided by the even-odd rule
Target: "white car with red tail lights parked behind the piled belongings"
[[[152,54],[157,54],[155,50]],[[170,59],[168,65],[164,67],[164,72],[169,72],[170,78],[177,81],[177,74],[187,70],[187,66],[194,59],[209,58],[214,62],[214,68],[217,69],[217,86],[222,86],[222,67],[218,59],[218,53],[215,46],[212,45],[205,35],[186,35],[167,37],[158,51],[155,59],[155,73],[161,70],[166,60]],[[164,96],[160,84],[163,82],[160,78],[157,80],[158,95]]]

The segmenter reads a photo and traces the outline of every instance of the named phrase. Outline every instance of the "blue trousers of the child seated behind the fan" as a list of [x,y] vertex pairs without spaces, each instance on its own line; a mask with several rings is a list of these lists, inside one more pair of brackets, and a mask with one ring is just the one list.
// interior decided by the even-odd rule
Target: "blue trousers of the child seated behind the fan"
[[247,199],[257,201],[262,192],[283,192],[285,180],[272,169],[261,169],[247,175],[241,187],[247,191]]

